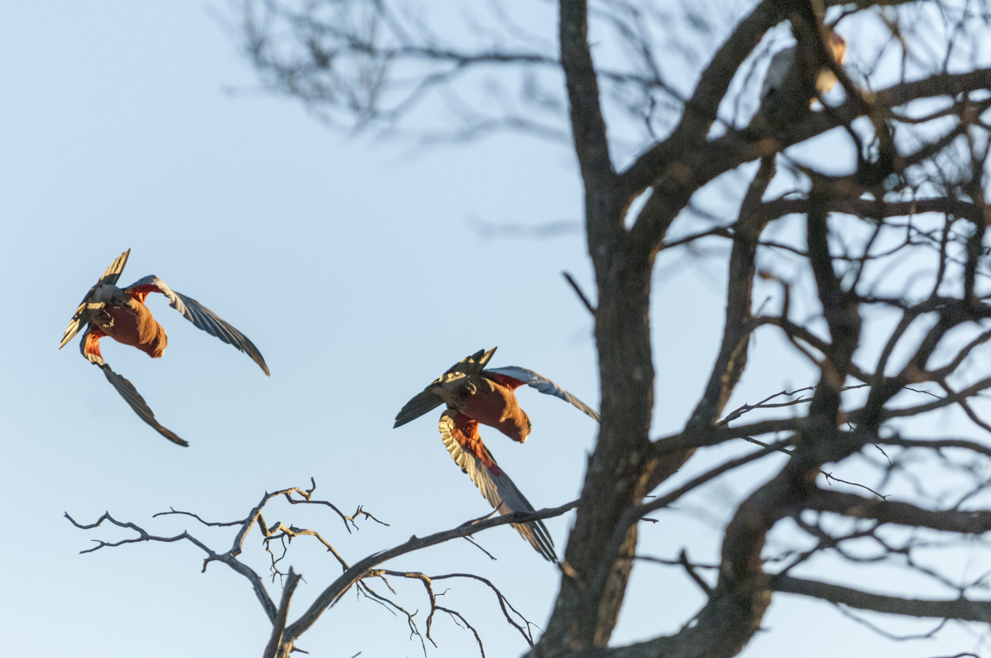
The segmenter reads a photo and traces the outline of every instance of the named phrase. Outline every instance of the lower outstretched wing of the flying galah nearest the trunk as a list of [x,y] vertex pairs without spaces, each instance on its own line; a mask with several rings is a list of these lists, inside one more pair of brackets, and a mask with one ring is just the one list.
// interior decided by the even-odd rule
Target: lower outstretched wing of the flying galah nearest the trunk
[[[477,421],[457,411],[448,410],[441,415],[439,428],[444,446],[455,463],[468,474],[499,514],[533,511],[533,505],[516,489],[482,443]],[[540,555],[551,562],[557,562],[554,541],[543,521],[513,523],[512,526]]]

